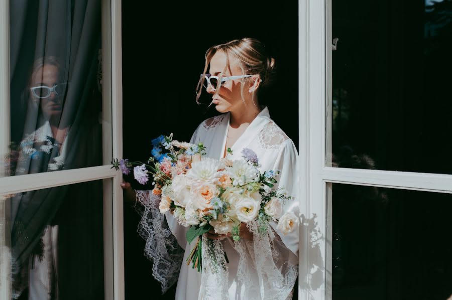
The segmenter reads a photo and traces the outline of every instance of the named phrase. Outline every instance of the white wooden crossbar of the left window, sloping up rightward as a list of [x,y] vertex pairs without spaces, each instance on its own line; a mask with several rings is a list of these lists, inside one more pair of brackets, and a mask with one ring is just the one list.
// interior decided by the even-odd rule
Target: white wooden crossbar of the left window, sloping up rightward
[[1,178],[0,196],[114,177],[118,171],[110,167],[111,165]]

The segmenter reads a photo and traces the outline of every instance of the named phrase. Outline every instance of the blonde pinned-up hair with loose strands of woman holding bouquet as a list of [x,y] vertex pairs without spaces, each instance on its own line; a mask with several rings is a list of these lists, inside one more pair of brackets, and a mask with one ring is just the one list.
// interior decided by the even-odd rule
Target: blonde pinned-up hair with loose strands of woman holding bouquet
[[[218,77],[221,77],[224,74],[224,72],[229,68],[231,56],[238,59],[239,68],[242,69],[242,75],[259,75],[260,79],[262,80],[262,82],[259,85],[259,89],[271,83],[275,70],[275,59],[267,57],[264,45],[260,41],[252,38],[233,40],[225,44],[212,46],[205,53],[204,71],[202,73],[201,78],[198,81],[198,85],[196,86],[197,103],[199,103],[198,99],[201,96],[202,85],[205,80],[205,74],[210,64],[210,60],[215,55],[215,53],[219,51],[223,52],[224,55],[226,56],[226,66],[218,75]],[[256,80],[256,78],[248,77],[243,79],[241,86],[242,100],[245,98],[244,87],[247,86],[247,84],[252,82],[253,80]],[[218,82],[218,87],[215,90],[214,96],[218,94],[220,87],[221,83]]]

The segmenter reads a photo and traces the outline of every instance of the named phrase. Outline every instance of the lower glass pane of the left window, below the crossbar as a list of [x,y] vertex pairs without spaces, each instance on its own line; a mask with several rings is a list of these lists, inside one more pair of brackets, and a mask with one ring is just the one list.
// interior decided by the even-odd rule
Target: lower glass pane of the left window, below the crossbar
[[102,180],[9,195],[0,204],[9,208],[0,211],[8,226],[0,262],[11,261],[4,274],[13,299],[104,298]]

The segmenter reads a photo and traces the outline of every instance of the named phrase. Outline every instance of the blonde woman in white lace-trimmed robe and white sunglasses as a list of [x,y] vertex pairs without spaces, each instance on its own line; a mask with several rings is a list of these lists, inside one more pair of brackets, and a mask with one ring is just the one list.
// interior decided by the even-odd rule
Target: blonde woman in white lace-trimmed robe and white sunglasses
[[[298,215],[296,148],[258,101],[259,91],[270,82],[274,67],[274,59],[266,56],[263,45],[255,39],[245,38],[211,47],[206,52],[196,100],[205,86],[212,95],[211,104],[223,114],[203,121],[190,142],[202,141],[207,147],[207,156],[214,159],[241,159],[242,149],[251,148],[259,158],[261,170],[281,171],[277,178],[279,188],[285,187],[296,199],[283,204],[283,213],[293,211]],[[122,187],[127,197],[135,197],[130,184],[122,183]],[[145,208],[140,233],[147,239],[146,253],[154,260],[153,275],[162,282],[163,291],[174,281],[174,266],[181,263],[177,265],[177,268],[180,266],[178,300],[291,298],[297,277],[297,230],[284,235],[276,228],[276,223],[271,223],[273,230],[262,234],[256,224],[242,224],[242,239],[238,243],[211,230],[206,237],[220,243],[229,260],[227,270],[198,273],[184,263],[194,247],[194,243],[186,241],[187,228],[180,226],[169,212],[163,220],[157,210],[156,196],[137,191],[136,197]],[[165,237],[166,227],[184,249],[183,259],[172,247],[172,236]],[[221,252],[216,254],[220,260],[226,260]]]

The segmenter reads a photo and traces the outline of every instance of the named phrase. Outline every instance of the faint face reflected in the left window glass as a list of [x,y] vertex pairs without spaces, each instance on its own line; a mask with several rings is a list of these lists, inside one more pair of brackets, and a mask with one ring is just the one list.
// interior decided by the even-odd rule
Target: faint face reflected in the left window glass
[[[58,68],[54,65],[44,65],[35,72],[32,78],[31,87],[53,87],[59,83]],[[49,119],[59,117],[61,115],[63,96],[64,95],[56,94],[55,91],[52,91],[50,96],[46,98],[38,98],[32,93],[32,97],[41,104],[41,109],[44,115]]]

